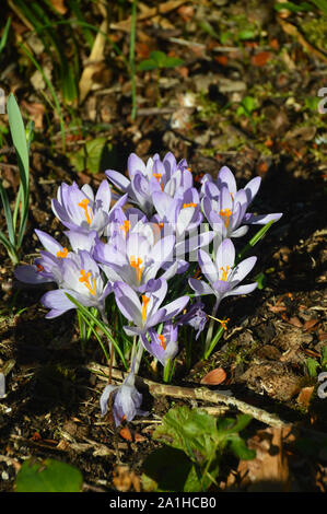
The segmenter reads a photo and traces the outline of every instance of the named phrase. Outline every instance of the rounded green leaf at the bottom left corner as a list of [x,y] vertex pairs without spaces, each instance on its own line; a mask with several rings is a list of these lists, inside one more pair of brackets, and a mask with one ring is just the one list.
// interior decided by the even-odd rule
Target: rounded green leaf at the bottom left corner
[[25,460],[16,476],[17,492],[79,492],[82,484],[79,469],[51,458]]

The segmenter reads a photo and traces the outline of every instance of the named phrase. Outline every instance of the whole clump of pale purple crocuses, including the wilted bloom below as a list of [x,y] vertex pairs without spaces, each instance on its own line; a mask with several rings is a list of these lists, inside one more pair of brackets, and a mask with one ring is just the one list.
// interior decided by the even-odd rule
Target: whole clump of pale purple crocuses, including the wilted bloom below
[[[233,173],[223,166],[217,179],[206,174],[196,187],[187,162],[177,163],[171,152],[147,163],[132,153],[128,178],[113,170],[106,176],[96,194],[89,185],[59,187],[51,207],[67,229],[67,243],[35,230],[44,249],[14,274],[27,283],[54,283],[40,299],[49,309],[47,318],[81,305],[110,330],[113,312],[119,311],[126,335],[119,355],[125,352],[129,373],[120,386],[108,384],[100,400],[105,414],[110,398],[119,425],[145,413],[136,388],[143,352],[163,366],[168,381],[183,346],[180,330],[191,327],[197,344],[208,319],[205,355],[212,351],[214,322],[226,328],[226,319],[215,317],[223,299],[257,287],[255,281],[243,283],[256,257],[237,260],[233,240],[243,237],[249,225],[267,226],[282,214],[247,211],[259,177],[237,189]],[[110,334],[115,339],[116,331]],[[116,362],[118,339],[109,344],[110,363]]]

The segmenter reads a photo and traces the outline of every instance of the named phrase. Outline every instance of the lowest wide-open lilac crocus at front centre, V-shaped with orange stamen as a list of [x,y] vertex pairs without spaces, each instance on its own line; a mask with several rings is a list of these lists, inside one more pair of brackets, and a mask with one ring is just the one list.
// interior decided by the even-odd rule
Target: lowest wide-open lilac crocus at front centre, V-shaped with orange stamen
[[166,293],[167,281],[164,279],[152,279],[148,282],[148,291],[141,299],[133,289],[125,282],[115,282],[114,293],[116,303],[124,316],[132,322],[135,326],[125,326],[128,336],[145,334],[150,328],[160,323],[171,320],[185,308],[188,296],[177,300],[161,307]]

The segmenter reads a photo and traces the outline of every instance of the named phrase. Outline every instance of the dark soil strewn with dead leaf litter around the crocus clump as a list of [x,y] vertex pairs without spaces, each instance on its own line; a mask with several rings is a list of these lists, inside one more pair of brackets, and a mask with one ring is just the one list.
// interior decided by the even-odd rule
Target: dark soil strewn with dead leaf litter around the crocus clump
[[[100,26],[102,17],[96,7],[82,3],[89,20]],[[198,362],[194,341],[192,366],[185,371],[182,351],[173,384],[199,387],[209,371],[223,367],[226,379],[219,387],[293,423],[293,436],[280,445],[291,477],[288,490],[326,492],[327,399],[317,396],[317,377],[310,375],[306,361],[312,358],[320,362],[327,344],[327,129],[326,114],[319,113],[314,103],[318,91],[326,86],[327,57],[317,31],[311,39],[307,28],[304,45],[300,32],[290,35],[285,25],[300,31],[314,20],[323,23],[324,17],[313,11],[289,13],[281,19],[273,3],[180,2],[166,14],[140,21],[137,61],[160,49],[182,58],[184,65],[162,70],[160,102],[155,71],[138,73],[139,110],[132,121],[129,77],[121,60],[106,48],[98,83],[83,103],[65,110],[67,127],[80,127],[68,131],[65,154],[58,117],[46,104],[46,115],[31,148],[31,211],[22,261],[32,262],[39,249],[34,229],[61,236],[61,226],[50,208],[61,182],[96,187],[106,168],[125,172],[131,151],[144,160],[155,152],[163,156],[172,151],[177,160],[187,159],[195,176],[215,176],[222,165],[227,165],[238,187],[261,176],[254,210],[283,212],[254,252],[258,256],[256,273],[265,273],[264,289],[222,304],[220,317],[229,317],[230,323],[215,352],[208,362]],[[32,107],[45,101],[43,92],[31,83],[35,70],[20,57],[15,39],[20,34],[26,38],[30,28],[9,5],[5,9],[13,20],[13,33],[12,44],[1,56],[0,86],[15,93],[27,120],[36,116]],[[118,23],[118,13],[113,12]],[[128,16],[129,7],[120,20]],[[245,27],[255,31],[253,37],[240,36]],[[224,40],[222,36],[227,32]],[[128,56],[129,33],[113,30],[113,35]],[[81,57],[86,55],[82,48]],[[42,66],[46,58],[44,50],[38,56]],[[249,115],[237,114],[246,96],[256,100],[256,107]],[[0,122],[5,127],[7,116]],[[106,138],[109,151],[102,155],[97,170],[87,161],[84,167],[77,167],[71,155],[98,137]],[[0,151],[0,170],[14,198],[16,161],[9,139],[4,139]],[[5,230],[3,218],[0,224]],[[84,491],[142,490],[144,459],[159,445],[151,434],[168,408],[213,405],[195,405],[170,396],[153,398],[145,393],[149,416],[129,423],[129,432],[119,433],[119,429],[115,434],[100,412],[105,382],[90,365],[104,363],[97,341],[92,339],[82,351],[75,317],[68,313],[45,319],[46,309],[39,299],[46,288],[17,283],[3,247],[0,262],[0,367],[14,361],[7,376],[7,395],[0,400],[0,491],[14,490],[15,476],[31,456],[77,466],[83,474]],[[147,369],[140,374],[160,381]],[[235,413],[236,409],[229,411]],[[248,440],[266,429],[253,420]],[[317,449],[317,442],[325,453]],[[226,458],[218,490],[252,490],[250,480],[240,476],[238,481],[235,479],[237,466],[237,462]]]

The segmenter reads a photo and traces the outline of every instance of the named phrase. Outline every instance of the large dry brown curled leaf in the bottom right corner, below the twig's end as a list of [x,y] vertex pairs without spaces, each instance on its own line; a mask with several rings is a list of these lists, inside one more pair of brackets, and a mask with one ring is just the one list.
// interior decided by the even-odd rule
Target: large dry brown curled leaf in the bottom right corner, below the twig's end
[[283,439],[290,428],[269,428],[260,430],[248,440],[247,445],[256,451],[253,460],[240,460],[238,472],[247,491],[268,492],[290,490],[289,464],[283,448]]

